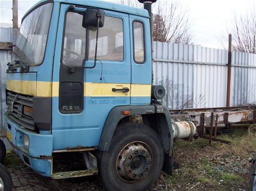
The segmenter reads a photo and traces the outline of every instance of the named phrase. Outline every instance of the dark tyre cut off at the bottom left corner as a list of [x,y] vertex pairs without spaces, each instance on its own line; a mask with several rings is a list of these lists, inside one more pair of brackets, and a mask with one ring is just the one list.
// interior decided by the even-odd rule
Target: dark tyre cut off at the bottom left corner
[[4,165],[0,164],[0,190],[11,191],[13,189],[12,177]]

